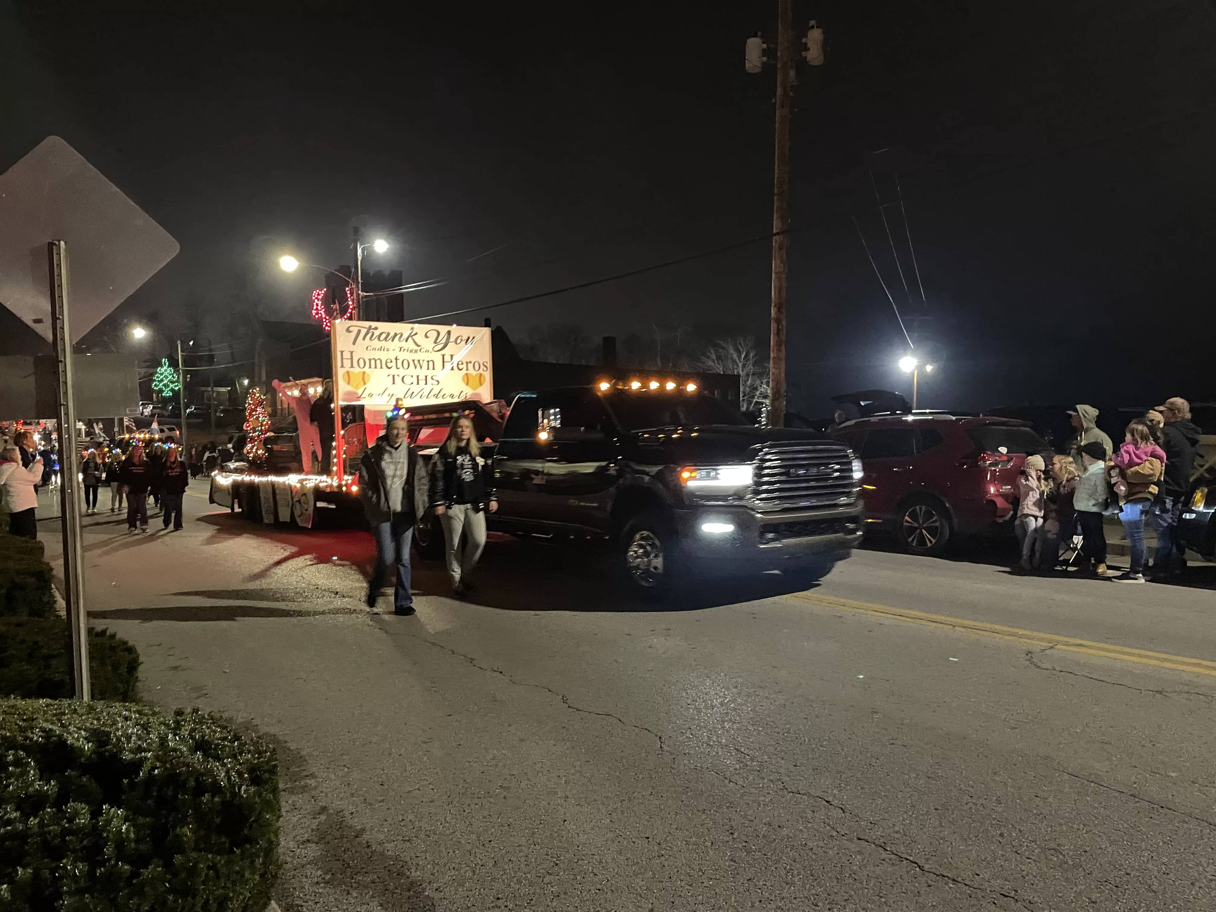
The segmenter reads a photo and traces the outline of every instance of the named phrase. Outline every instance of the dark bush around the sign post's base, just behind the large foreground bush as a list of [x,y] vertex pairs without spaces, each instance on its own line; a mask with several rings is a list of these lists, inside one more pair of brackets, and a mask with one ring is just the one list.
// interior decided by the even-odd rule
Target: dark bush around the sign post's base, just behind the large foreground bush
[[[89,630],[92,698],[135,699],[140,654],[106,630]],[[0,618],[0,697],[62,699],[75,692],[72,641],[62,618]]]

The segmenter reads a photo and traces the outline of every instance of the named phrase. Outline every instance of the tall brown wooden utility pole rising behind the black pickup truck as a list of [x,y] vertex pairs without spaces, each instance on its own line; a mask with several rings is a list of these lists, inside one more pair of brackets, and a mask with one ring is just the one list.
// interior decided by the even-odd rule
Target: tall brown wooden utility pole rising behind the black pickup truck
[[789,268],[789,109],[794,100],[794,0],[777,0],[777,126],[772,164],[772,314],[769,426],[786,426],[786,289]]

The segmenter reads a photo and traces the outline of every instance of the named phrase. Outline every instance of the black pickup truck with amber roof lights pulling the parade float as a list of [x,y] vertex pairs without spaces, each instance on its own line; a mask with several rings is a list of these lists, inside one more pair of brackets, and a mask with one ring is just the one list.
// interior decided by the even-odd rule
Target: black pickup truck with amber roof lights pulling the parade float
[[522,393],[492,460],[492,529],[603,539],[627,585],[781,569],[820,579],[861,540],[861,463],[672,381]]

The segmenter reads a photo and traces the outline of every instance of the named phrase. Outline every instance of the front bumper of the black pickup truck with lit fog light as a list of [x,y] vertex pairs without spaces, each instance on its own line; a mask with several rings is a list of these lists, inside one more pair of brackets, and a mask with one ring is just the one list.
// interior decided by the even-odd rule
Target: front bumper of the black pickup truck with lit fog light
[[861,505],[759,513],[747,506],[676,511],[686,559],[709,572],[782,569],[844,561],[861,542]]

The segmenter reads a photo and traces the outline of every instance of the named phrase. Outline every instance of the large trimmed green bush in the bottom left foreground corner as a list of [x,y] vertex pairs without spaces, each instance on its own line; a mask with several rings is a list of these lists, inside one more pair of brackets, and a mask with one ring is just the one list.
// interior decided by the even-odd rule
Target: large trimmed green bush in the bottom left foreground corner
[[198,710],[0,700],[0,910],[264,912],[274,749]]

